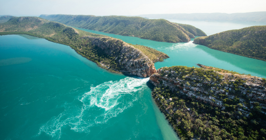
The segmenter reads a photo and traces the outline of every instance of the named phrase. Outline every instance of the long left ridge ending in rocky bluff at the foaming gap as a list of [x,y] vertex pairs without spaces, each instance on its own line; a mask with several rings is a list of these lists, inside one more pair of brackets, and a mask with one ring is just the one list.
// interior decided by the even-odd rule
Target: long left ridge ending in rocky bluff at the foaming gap
[[[38,17],[13,17],[0,24],[0,35],[27,34],[71,46],[77,53],[112,72],[141,77],[156,72],[154,63],[139,49],[122,40],[88,33]],[[162,54],[154,50],[154,55]],[[158,56],[158,59],[162,59]]]

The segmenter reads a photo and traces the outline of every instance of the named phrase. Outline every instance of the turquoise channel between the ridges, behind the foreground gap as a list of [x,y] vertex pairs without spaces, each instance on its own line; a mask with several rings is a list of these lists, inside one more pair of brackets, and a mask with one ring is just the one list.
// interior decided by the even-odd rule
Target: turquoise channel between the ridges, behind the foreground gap
[[[219,24],[217,25],[215,22],[213,23],[213,26],[219,28]],[[192,41],[186,43],[168,43],[145,40],[136,37],[120,36],[82,28],[77,29],[91,33],[103,34],[113,38],[119,38],[131,44],[148,46],[166,53],[170,58],[165,59],[163,62],[156,62],[154,64],[156,69],[165,66],[198,67],[197,64],[202,64],[226,70],[233,70],[241,74],[245,73],[266,78],[266,61],[225,53],[210,49],[206,46],[193,44],[193,38],[191,39]],[[212,31],[212,29],[209,29],[208,31]]]

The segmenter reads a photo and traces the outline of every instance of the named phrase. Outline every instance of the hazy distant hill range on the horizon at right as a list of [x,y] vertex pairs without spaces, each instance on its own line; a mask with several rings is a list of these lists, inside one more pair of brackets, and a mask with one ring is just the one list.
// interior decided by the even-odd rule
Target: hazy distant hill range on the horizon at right
[[182,19],[182,20],[210,20],[210,21],[254,21],[266,22],[266,12],[248,13],[192,13],[192,14],[143,14],[148,18]]

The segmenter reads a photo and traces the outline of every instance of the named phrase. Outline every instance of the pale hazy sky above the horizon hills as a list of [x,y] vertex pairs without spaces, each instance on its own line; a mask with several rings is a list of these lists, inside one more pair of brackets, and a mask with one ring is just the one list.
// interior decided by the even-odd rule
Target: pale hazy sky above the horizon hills
[[266,11],[266,0],[0,0],[0,15],[124,15]]

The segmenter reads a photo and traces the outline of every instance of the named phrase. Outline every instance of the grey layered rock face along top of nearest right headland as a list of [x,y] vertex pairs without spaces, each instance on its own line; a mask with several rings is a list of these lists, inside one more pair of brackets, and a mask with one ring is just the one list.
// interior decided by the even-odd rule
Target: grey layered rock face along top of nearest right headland
[[[195,76],[195,74],[182,76],[182,72],[163,70],[163,68],[158,69],[157,72],[150,76],[149,82],[153,85],[169,87],[173,93],[178,92],[189,98],[196,98],[199,102],[208,103],[220,109],[224,109],[224,102],[215,97],[221,94],[230,99],[240,98],[242,104],[247,102],[242,98],[249,98],[250,104],[259,102],[263,108],[266,108],[266,84],[265,79],[260,77],[217,72],[222,75],[222,80],[218,80],[219,77],[217,77],[215,78],[217,81],[213,81],[205,80],[203,76]],[[248,110],[243,111],[243,114],[248,114]]]

